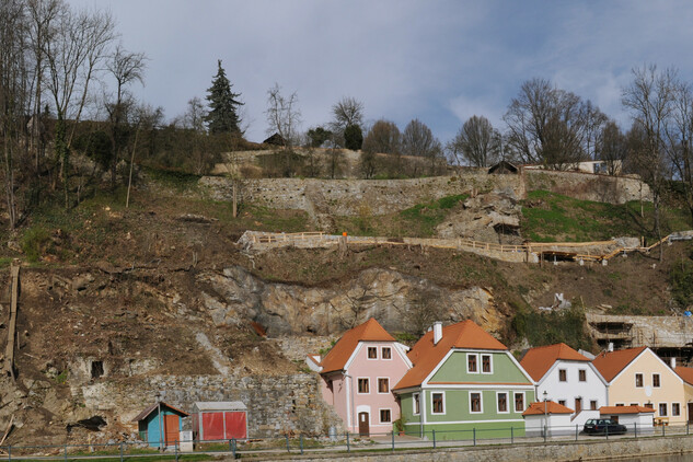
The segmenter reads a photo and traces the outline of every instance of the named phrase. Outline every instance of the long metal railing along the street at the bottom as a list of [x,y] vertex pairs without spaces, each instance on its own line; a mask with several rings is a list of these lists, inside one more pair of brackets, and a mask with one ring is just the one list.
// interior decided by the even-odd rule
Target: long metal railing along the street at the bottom
[[[432,427],[432,428],[431,428]],[[100,461],[125,461],[131,458],[158,458],[160,460],[180,460],[200,454],[210,458],[227,454],[241,458],[252,454],[281,453],[348,453],[354,451],[383,450],[420,450],[435,451],[440,448],[465,448],[483,444],[546,444],[562,441],[593,441],[623,438],[662,438],[690,435],[691,428],[685,425],[643,426],[628,424],[626,432],[613,435],[609,431],[599,435],[587,435],[581,425],[570,426],[536,426],[523,425],[503,426],[496,428],[469,428],[463,430],[436,429],[427,425],[420,431],[416,424],[406,426],[404,432],[372,432],[358,435],[353,432],[292,436],[277,435],[265,438],[223,439],[213,441],[175,441],[173,443],[148,443],[147,441],[123,441],[115,443],[90,444],[45,444],[45,446],[3,446],[0,447],[0,460],[55,460],[79,461],[99,459]],[[153,447],[151,446],[153,444]]]

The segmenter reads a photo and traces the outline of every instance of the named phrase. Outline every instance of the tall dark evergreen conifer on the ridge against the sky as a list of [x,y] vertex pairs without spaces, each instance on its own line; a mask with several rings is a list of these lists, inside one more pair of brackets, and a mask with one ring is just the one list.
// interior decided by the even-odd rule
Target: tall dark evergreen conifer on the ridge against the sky
[[218,61],[219,70],[211,81],[211,86],[207,89],[207,101],[209,101],[209,114],[205,117],[207,128],[210,134],[241,134],[239,128],[239,116],[236,106],[243,105],[236,100],[241,93],[231,92],[231,83],[227,79],[227,72],[221,67],[221,59]]

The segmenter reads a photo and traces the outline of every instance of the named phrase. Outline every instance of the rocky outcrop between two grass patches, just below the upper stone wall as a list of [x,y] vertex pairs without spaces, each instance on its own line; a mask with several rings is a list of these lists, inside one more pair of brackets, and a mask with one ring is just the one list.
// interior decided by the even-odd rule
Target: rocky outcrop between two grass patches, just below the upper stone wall
[[522,207],[512,190],[480,194],[464,201],[436,231],[440,238],[466,238],[476,241],[520,244]]

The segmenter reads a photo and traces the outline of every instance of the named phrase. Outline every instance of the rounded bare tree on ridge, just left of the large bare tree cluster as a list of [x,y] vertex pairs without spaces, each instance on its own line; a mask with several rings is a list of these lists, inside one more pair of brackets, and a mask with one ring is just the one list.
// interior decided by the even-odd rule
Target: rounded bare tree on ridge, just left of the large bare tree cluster
[[472,166],[488,166],[500,157],[500,134],[484,116],[470,117],[448,145],[448,152],[459,152]]

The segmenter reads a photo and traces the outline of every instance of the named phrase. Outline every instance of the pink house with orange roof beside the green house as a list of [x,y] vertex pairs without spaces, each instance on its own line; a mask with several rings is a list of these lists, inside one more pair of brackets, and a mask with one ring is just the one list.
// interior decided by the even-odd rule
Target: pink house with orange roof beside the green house
[[392,388],[412,368],[407,349],[371,317],[347,331],[324,358],[310,355],[307,363],[320,372],[323,399],[349,431],[384,434],[400,418]]

